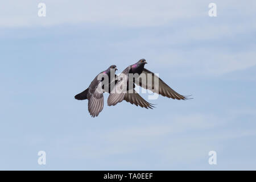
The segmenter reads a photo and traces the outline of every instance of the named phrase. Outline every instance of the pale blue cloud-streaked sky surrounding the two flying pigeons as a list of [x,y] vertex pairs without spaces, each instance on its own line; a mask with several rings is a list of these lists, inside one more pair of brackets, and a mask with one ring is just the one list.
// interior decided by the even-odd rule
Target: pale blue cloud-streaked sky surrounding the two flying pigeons
[[[0,169],[256,169],[256,3],[8,1],[0,7]],[[91,118],[73,97],[144,58],[180,94]],[[147,94],[142,94],[147,99]],[[46,165],[38,151],[46,151]],[[217,152],[217,165],[208,152]]]

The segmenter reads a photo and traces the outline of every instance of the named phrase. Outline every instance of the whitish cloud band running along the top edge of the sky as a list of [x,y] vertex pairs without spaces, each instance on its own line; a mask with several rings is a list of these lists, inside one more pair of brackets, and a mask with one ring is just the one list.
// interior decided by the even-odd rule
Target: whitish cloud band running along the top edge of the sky
[[[47,17],[38,17],[41,1],[5,1],[0,7],[0,27],[55,26],[64,23],[100,23],[122,26],[158,26],[172,20],[208,16],[208,2],[198,1],[76,1],[45,0]],[[234,9],[245,15],[255,15],[254,1],[242,5],[240,1],[216,1],[220,15]],[[239,6],[238,6],[239,5]]]

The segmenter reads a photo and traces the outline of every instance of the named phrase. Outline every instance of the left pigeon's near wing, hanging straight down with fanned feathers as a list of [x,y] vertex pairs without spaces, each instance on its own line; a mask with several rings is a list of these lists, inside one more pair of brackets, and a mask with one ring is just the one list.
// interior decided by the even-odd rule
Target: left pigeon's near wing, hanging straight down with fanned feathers
[[88,111],[94,118],[98,116],[104,106],[102,82],[94,79],[88,89]]

